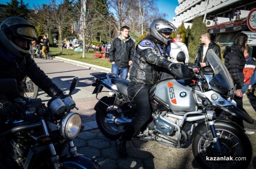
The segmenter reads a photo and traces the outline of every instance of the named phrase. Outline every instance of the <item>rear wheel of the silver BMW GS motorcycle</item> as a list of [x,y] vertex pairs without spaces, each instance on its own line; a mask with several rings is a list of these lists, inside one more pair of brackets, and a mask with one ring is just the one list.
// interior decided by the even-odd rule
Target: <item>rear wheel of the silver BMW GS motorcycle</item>
[[[116,118],[115,109],[119,107],[119,104],[117,102],[115,103],[114,97],[105,97],[102,98],[101,101],[105,104],[108,104],[109,106],[100,102],[102,108],[104,109],[104,112],[96,111],[96,122],[99,130],[107,138],[111,140],[117,140],[121,136],[122,132],[124,132],[124,130],[120,129],[114,123],[108,123],[107,120],[111,121],[111,118]],[[107,115],[107,117],[105,117],[104,115]]]

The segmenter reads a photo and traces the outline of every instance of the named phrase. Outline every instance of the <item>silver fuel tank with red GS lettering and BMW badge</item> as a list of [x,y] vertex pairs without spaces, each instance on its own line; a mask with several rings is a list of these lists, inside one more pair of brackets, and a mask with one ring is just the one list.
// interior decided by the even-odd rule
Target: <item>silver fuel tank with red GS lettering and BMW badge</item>
[[154,96],[174,111],[196,111],[192,88],[184,80],[169,79],[157,84]]

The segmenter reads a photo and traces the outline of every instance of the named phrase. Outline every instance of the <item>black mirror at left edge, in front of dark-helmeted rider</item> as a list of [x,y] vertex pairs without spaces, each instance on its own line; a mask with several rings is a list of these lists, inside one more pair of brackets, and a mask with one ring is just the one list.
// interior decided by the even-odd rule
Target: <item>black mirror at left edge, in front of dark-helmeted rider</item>
[[16,79],[0,79],[0,93],[17,94],[18,92]]

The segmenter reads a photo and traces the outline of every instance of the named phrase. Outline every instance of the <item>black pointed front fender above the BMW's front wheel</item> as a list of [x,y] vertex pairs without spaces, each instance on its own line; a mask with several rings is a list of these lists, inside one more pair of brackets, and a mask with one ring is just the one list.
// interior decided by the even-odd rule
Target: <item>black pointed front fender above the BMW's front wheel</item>
[[221,107],[221,109],[227,113],[230,113],[231,115],[236,116],[237,118],[242,118],[244,121],[250,124],[253,124],[253,119],[246,112],[246,110],[244,110],[243,107],[237,108],[236,106],[230,105],[230,106],[223,106]]

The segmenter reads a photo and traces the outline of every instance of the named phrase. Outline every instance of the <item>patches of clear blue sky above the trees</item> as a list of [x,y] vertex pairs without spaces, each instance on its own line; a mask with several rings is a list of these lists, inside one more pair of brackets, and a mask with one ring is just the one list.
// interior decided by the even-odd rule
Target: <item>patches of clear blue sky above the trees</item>
[[[18,0],[20,2],[20,0]],[[58,1],[61,0],[56,0]],[[1,4],[7,4],[11,2],[11,0],[1,0]],[[23,0],[23,3],[28,3],[29,8],[33,8],[33,5],[43,4],[43,3],[49,3],[49,0]],[[168,17],[166,17],[167,20],[173,21],[173,17],[176,17],[175,14],[175,8],[178,6],[178,0],[157,0],[157,6],[159,8],[160,13],[166,13],[168,14]]]

